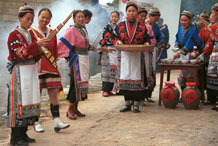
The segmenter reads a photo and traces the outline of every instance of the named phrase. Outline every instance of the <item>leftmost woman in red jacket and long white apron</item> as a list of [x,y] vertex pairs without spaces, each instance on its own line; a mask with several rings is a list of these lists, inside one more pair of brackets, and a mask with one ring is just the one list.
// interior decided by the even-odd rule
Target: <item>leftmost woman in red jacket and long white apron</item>
[[26,134],[40,114],[40,92],[36,61],[41,56],[39,46],[47,46],[48,38],[36,41],[28,32],[32,25],[34,10],[29,5],[19,8],[20,26],[8,37],[9,97],[7,126],[11,128],[11,145],[27,146],[35,142]]

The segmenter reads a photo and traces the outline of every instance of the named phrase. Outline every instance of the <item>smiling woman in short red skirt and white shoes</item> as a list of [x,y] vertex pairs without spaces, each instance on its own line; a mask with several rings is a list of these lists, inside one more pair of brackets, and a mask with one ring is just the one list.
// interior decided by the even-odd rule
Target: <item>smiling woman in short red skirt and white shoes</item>
[[[34,32],[35,37],[37,38],[45,38],[48,36],[53,30],[47,27],[52,18],[52,13],[49,9],[43,8],[39,11],[38,14],[38,25],[37,27],[31,29]],[[57,60],[57,38],[56,36],[50,41],[48,45],[48,50],[51,52],[52,56],[55,60]],[[53,67],[52,64],[46,59],[45,56],[41,57],[41,60],[38,62],[38,72],[39,72],[39,81],[40,81],[40,92],[42,92],[43,88],[47,88],[48,95],[50,99],[50,110],[52,117],[54,119],[54,129],[56,132],[60,131],[60,129],[68,128],[69,124],[64,124],[60,120],[59,113],[59,105],[57,94],[58,90],[61,86],[61,78],[60,73],[57,68]],[[43,128],[41,124],[38,122],[35,123],[36,132],[43,132]]]

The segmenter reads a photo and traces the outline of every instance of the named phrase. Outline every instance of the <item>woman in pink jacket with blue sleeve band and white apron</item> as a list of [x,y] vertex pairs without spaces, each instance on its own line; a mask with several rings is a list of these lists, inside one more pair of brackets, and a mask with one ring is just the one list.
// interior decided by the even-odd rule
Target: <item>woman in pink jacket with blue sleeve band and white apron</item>
[[67,95],[69,109],[67,116],[76,119],[76,116],[84,117],[78,111],[78,102],[81,100],[82,89],[88,89],[89,80],[89,38],[83,27],[84,14],[80,10],[73,13],[74,25],[67,29],[65,34],[58,40],[58,57],[66,58],[70,67],[70,90]]

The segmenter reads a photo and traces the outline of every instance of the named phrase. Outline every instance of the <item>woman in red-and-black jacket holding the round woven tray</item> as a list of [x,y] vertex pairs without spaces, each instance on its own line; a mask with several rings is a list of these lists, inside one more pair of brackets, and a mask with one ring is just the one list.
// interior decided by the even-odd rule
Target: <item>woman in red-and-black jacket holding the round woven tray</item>
[[[126,6],[127,19],[118,24],[113,44],[147,44],[149,36],[146,26],[137,21],[138,6],[128,2]],[[119,51],[116,91],[123,94],[125,105],[120,112],[131,110],[130,100],[134,100],[133,112],[139,111],[139,101],[142,99],[146,86],[142,52]]]

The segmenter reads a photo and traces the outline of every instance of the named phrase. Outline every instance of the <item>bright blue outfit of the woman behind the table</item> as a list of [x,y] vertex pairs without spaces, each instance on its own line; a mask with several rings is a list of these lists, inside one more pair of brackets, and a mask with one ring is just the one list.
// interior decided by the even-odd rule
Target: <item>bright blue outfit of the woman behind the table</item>
[[[192,25],[187,29],[183,29],[183,26],[180,26],[176,34],[175,45],[178,45],[179,49],[187,55],[192,52],[194,46],[197,46],[199,51],[203,48],[203,43],[198,32]],[[185,83],[191,81],[193,81],[193,73],[181,70],[178,77],[178,82],[181,88],[185,88]]]

